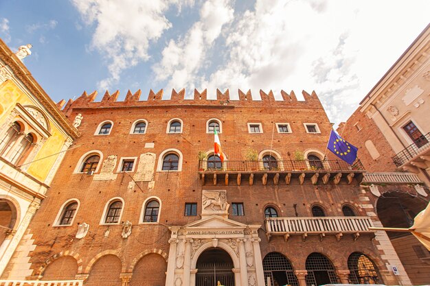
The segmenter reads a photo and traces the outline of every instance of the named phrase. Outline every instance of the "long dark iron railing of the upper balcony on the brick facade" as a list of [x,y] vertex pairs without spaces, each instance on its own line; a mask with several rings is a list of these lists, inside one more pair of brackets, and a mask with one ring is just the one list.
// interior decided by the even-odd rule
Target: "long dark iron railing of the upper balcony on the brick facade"
[[364,167],[360,160],[352,165],[343,160],[200,160],[199,171],[364,171]]

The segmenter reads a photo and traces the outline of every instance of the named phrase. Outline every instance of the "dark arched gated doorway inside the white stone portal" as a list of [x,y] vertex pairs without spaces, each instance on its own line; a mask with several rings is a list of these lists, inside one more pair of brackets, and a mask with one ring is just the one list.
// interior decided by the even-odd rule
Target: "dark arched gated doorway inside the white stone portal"
[[233,261],[220,248],[208,248],[197,259],[196,286],[234,286]]

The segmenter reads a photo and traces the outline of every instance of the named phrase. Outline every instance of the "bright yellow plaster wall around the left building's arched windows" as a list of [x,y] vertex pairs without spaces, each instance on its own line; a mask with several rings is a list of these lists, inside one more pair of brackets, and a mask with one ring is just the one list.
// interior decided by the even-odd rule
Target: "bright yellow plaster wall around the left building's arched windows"
[[[10,112],[12,112],[17,103],[21,105],[35,106],[34,102],[23,91],[21,91],[21,88],[16,86],[12,80],[3,82],[3,84],[0,85],[0,125],[5,121],[8,115],[10,115]],[[39,108],[42,107],[38,105],[36,106]],[[63,147],[66,140],[66,136],[56,128],[56,125],[49,119],[49,117],[47,118],[51,128],[49,132],[52,136],[49,136],[33,160],[60,152],[61,147]],[[52,156],[31,163],[27,169],[27,173],[38,180],[44,181],[45,178],[47,178],[52,165],[54,165],[56,158],[57,156]]]

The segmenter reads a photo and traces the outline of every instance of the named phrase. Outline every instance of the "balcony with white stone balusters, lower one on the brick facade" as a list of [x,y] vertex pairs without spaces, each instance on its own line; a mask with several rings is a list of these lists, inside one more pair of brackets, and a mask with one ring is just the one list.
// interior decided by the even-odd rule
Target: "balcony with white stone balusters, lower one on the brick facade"
[[363,233],[373,234],[370,217],[270,217],[265,220],[267,239],[273,235],[282,235],[285,241],[291,235],[301,235],[305,240],[308,235],[319,235],[322,240],[326,235],[335,235],[339,241],[343,235],[352,235],[357,240]]

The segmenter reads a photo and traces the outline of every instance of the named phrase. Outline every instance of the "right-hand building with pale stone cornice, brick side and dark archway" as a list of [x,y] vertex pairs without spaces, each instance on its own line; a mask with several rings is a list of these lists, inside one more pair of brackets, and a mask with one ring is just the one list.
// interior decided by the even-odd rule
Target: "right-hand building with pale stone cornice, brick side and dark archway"
[[[385,227],[409,228],[429,201],[430,25],[338,128],[359,147],[371,203]],[[430,283],[430,253],[405,233],[388,234],[414,285]]]

